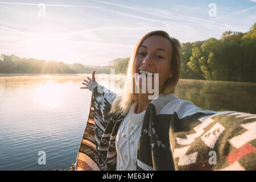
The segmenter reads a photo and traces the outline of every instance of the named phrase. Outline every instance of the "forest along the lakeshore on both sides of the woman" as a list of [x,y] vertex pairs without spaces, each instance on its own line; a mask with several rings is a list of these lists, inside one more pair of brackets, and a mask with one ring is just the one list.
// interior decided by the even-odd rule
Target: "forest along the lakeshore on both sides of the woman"
[[[256,22],[242,33],[225,31],[220,39],[181,43],[181,78],[256,82]],[[0,56],[0,73],[125,73],[129,57],[109,61],[108,66],[86,66],[80,63],[64,64]]]

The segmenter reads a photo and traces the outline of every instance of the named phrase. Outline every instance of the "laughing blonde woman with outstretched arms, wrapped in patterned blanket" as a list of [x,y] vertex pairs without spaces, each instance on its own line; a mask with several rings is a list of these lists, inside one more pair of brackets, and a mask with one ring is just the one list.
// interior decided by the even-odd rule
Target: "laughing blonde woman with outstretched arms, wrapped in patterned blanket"
[[255,169],[256,134],[245,134],[255,131],[255,115],[201,110],[177,98],[180,62],[180,42],[152,31],[134,49],[123,93],[98,85],[95,71],[84,80],[92,103],[77,170]]

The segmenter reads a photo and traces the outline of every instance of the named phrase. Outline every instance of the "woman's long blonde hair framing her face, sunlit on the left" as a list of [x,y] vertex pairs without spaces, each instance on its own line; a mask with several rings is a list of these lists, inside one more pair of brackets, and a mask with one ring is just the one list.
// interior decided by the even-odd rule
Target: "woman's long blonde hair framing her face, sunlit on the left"
[[[128,67],[126,68],[126,81],[125,81],[125,88],[123,93],[119,94],[115,100],[113,101],[110,113],[119,114],[123,113],[126,114],[130,110],[131,104],[137,100],[137,94],[135,92],[130,93],[129,90],[135,86],[134,77],[133,75],[133,68],[134,68],[134,59],[137,55],[138,48],[141,46],[143,41],[148,38],[149,36],[159,35],[163,36],[164,38],[170,40],[172,45],[172,59],[171,59],[171,71],[172,71],[172,78],[167,78],[166,82],[164,83],[164,88],[162,94],[174,93],[175,87],[177,82],[180,78],[180,61],[181,61],[181,44],[179,40],[170,37],[167,32],[165,31],[152,31],[148,34],[144,35],[141,40],[136,44],[133,55],[130,57]],[[133,89],[134,90],[134,89]]]

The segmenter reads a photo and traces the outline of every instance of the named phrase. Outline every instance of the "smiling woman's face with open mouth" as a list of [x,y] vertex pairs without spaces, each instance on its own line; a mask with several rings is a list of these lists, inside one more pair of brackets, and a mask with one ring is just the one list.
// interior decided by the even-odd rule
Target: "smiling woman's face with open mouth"
[[[159,35],[149,36],[138,48],[134,60],[134,73],[138,73],[139,77],[143,76],[141,74],[143,71],[158,73],[160,93],[167,78],[172,77],[171,58],[172,47],[170,41]],[[154,85],[154,76],[152,76],[152,85]],[[139,88],[141,87],[142,82],[139,81]]]

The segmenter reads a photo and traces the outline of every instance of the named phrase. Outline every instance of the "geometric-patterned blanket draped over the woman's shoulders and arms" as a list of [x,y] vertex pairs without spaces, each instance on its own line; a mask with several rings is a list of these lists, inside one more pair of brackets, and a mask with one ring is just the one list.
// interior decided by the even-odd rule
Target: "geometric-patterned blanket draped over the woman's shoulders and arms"
[[[116,169],[115,137],[125,115],[109,114],[117,95],[103,90],[93,89],[76,170]],[[160,94],[143,119],[137,170],[255,170],[255,131],[255,114],[201,110]]]

